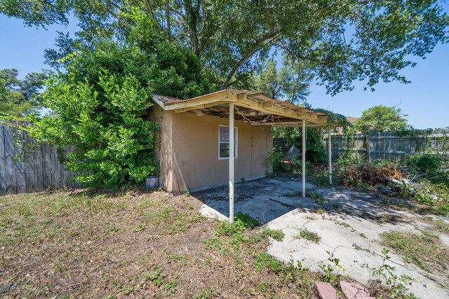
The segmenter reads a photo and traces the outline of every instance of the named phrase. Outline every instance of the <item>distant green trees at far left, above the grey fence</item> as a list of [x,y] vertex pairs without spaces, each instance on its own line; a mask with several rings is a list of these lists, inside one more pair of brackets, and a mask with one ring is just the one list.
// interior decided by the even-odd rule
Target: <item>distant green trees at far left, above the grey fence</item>
[[51,71],[29,73],[18,79],[17,69],[0,70],[0,117],[24,117],[41,108],[40,91]]

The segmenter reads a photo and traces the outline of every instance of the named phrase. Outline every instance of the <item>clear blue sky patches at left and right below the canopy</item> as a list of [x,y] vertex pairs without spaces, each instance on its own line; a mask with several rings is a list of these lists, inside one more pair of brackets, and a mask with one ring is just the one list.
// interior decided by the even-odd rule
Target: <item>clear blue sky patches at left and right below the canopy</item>
[[[36,29],[25,27],[21,20],[0,15],[0,69],[19,69],[20,76],[25,76],[30,71],[48,68],[43,64],[43,50],[54,48],[56,31],[74,32],[75,25]],[[363,85],[356,84],[355,90],[335,97],[314,85],[308,102],[315,108],[355,117],[375,105],[396,106],[408,114],[410,125],[417,129],[448,127],[448,70],[449,44],[438,45],[426,60],[417,60],[417,67],[403,71],[412,83],[380,83],[375,86],[375,92],[364,91]]]

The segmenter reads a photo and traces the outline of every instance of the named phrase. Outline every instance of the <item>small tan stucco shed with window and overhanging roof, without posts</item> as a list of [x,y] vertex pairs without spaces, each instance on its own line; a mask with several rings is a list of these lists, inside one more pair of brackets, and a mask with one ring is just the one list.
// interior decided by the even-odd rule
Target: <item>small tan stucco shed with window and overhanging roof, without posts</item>
[[[325,125],[323,113],[271,99],[262,92],[220,90],[193,99],[153,95],[151,118],[160,125],[156,156],[160,186],[169,192],[198,190],[229,182],[257,179],[272,172],[267,162],[273,148],[272,127]],[[230,136],[230,113],[234,137]]]

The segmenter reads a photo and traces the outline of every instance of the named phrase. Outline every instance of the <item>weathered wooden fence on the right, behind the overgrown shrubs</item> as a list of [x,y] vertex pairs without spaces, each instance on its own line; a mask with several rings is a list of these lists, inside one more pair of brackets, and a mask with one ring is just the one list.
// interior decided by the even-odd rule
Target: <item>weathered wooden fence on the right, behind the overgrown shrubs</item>
[[[449,132],[417,135],[396,135],[394,133],[355,134],[353,138],[333,135],[332,156],[340,158],[344,151],[352,151],[368,160],[402,160],[413,153],[449,155]],[[324,138],[328,143],[328,137]]]

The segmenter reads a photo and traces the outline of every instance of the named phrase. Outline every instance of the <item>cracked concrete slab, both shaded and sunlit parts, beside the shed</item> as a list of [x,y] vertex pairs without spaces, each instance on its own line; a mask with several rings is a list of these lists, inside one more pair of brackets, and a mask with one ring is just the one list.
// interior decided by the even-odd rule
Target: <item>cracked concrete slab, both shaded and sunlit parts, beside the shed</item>
[[[328,263],[328,253],[340,258],[344,268],[342,274],[349,275],[363,284],[373,279],[369,267],[383,263],[380,234],[392,230],[419,232],[431,230],[421,217],[408,211],[394,209],[386,204],[386,198],[378,195],[340,190],[316,188],[307,183],[307,190],[323,196],[322,204],[309,197],[300,197],[299,181],[260,179],[236,184],[235,211],[260,218],[269,228],[280,229],[286,234],[281,241],[272,241],[267,251],[281,260],[299,261],[303,267],[319,270],[319,265]],[[210,218],[225,219],[229,215],[227,186],[194,193],[204,202],[201,213]],[[388,200],[387,200],[388,201]],[[406,200],[403,204],[408,204]],[[442,218],[448,221],[448,218]],[[297,237],[301,229],[316,232],[321,240],[310,242]],[[448,245],[449,236],[440,235]],[[449,271],[428,273],[419,267],[404,263],[401,256],[390,252],[389,265],[396,267],[395,274],[407,274],[414,279],[410,291],[419,298],[449,298]],[[448,261],[449,263],[449,261]]]

